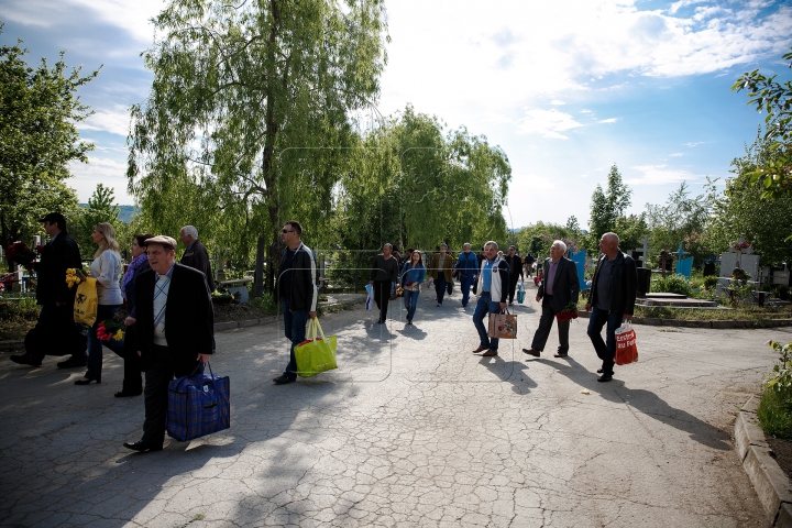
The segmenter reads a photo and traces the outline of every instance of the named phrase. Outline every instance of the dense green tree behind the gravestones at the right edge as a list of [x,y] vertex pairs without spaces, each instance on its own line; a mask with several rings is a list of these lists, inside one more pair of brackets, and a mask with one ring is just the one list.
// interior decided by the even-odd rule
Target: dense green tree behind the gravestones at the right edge
[[792,226],[792,196],[762,200],[762,190],[751,184],[750,174],[773,156],[768,140],[757,136],[746,154],[732,162],[735,177],[726,180],[723,195],[714,199],[707,223],[707,245],[715,253],[745,239],[760,255],[760,264],[792,262],[792,241],[784,240]]

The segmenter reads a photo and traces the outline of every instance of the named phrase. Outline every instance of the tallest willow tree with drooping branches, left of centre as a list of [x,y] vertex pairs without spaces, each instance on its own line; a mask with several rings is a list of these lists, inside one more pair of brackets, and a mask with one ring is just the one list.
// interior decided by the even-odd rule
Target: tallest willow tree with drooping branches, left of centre
[[[130,190],[154,226],[211,210],[201,238],[241,258],[260,233],[276,258],[285,220],[328,229],[349,113],[380,91],[384,19],[383,0],[174,0],[154,19],[164,36],[144,55],[154,81],[129,138]],[[173,191],[180,215],[160,204]]]

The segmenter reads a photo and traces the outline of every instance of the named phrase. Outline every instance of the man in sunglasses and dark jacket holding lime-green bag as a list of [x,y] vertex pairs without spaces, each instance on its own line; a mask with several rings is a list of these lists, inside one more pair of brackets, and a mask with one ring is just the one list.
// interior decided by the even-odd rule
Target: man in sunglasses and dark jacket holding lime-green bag
[[275,292],[284,314],[284,333],[290,341],[289,362],[286,370],[274,378],[278,385],[297,381],[297,359],[294,348],[305,341],[308,318],[316,317],[319,299],[317,265],[314,253],[302,243],[302,226],[289,220],[280,230],[280,241],[286,246],[280,258]]

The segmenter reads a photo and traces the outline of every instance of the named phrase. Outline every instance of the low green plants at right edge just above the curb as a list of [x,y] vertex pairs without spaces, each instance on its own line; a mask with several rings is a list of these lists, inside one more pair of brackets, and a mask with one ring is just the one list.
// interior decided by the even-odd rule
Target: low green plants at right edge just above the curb
[[757,416],[768,435],[792,438],[792,342],[768,344],[779,353],[772,372],[765,378],[765,392]]

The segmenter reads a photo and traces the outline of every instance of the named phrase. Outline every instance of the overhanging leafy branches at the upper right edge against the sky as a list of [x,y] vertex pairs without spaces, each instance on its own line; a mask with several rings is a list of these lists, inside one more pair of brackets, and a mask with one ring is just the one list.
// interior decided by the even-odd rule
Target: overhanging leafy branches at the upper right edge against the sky
[[[792,52],[783,55],[792,68]],[[732,86],[733,90],[748,90],[748,103],[767,112],[765,140],[772,152],[748,174],[751,183],[762,188],[762,198],[792,196],[792,82],[778,82],[777,75],[766,77],[755,69],[745,73]]]

